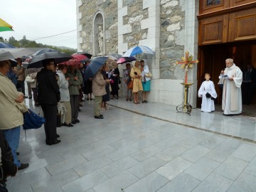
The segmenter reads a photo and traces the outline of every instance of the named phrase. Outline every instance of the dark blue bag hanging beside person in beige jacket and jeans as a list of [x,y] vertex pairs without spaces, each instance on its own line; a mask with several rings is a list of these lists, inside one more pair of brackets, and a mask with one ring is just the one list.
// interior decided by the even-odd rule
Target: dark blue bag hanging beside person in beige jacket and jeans
[[23,113],[23,129],[38,129],[46,122],[46,119],[29,110]]

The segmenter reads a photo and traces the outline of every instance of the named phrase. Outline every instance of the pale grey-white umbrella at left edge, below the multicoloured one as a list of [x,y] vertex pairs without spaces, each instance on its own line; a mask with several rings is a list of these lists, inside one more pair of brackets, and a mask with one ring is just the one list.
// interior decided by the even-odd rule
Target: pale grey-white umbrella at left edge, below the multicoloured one
[[35,53],[35,51],[29,48],[1,48],[0,60],[9,60],[21,58],[23,55],[29,55]]

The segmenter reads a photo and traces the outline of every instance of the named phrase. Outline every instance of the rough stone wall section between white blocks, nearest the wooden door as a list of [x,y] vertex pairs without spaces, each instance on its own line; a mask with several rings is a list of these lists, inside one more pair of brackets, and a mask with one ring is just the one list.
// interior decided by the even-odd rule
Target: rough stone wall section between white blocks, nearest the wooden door
[[160,78],[182,80],[183,70],[176,66],[184,55],[185,11],[178,0],[161,0]]

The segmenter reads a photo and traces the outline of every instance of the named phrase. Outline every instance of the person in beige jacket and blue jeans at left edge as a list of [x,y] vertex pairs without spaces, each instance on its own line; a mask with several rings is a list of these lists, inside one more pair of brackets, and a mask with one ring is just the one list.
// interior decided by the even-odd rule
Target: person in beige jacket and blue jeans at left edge
[[6,76],[10,67],[9,60],[0,61],[0,129],[11,147],[14,164],[18,170],[21,170],[28,167],[28,164],[21,164],[18,161],[16,151],[20,139],[20,127],[23,124],[23,113],[27,112],[28,108],[23,102],[23,93],[18,92],[14,83]]

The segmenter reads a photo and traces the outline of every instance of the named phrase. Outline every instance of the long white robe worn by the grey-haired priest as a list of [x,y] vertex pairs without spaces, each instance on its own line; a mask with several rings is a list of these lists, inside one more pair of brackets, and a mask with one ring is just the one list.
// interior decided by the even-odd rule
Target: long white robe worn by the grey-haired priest
[[[233,80],[228,80],[228,77]],[[242,71],[235,63],[230,68],[225,68],[224,75],[220,75],[219,78],[223,78],[223,100],[222,110],[224,114],[240,114],[242,112]]]

